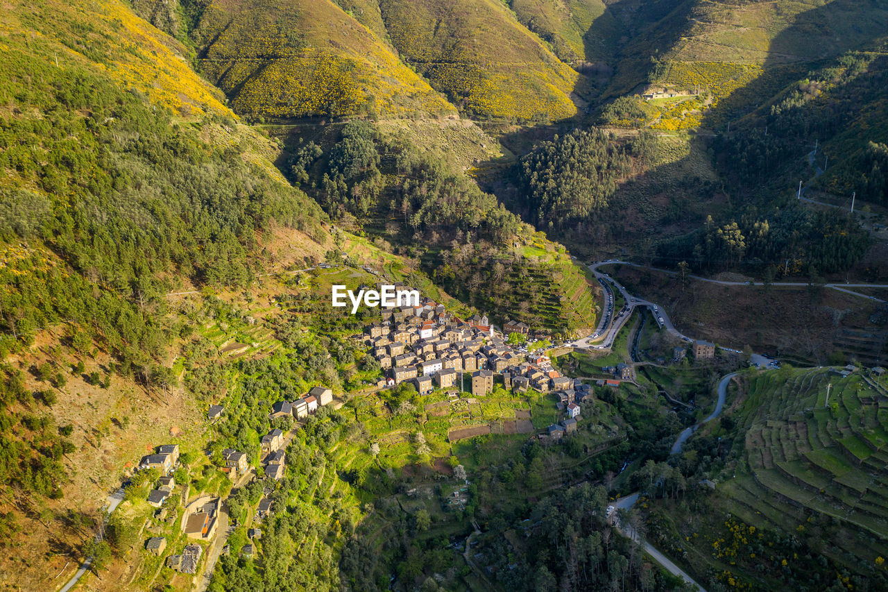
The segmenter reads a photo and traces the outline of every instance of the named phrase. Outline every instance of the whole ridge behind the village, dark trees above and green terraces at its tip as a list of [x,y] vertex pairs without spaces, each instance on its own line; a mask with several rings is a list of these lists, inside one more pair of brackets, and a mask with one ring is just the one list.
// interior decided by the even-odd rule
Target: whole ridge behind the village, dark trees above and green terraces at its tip
[[290,180],[338,225],[416,259],[448,292],[497,323],[510,316],[559,334],[590,330],[592,289],[564,248],[537,235],[447,159],[417,147],[409,135],[366,122],[331,127],[313,139],[297,131],[287,138]]

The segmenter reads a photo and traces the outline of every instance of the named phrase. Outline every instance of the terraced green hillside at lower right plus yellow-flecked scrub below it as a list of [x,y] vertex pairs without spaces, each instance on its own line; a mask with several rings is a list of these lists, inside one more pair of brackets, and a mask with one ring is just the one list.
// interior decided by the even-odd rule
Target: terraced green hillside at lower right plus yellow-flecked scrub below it
[[[685,541],[688,553],[715,570],[730,563],[738,581],[757,588],[768,577],[757,573],[759,559],[773,561],[776,554],[780,563],[787,553],[777,544],[763,552],[760,533],[775,530],[855,581],[884,579],[877,558],[888,553],[886,397],[865,370],[848,378],[816,368],[748,375],[729,419],[699,436],[703,442],[696,447],[705,450],[717,435],[733,443],[723,454],[724,468],[712,477],[718,485],[703,498],[701,516],[724,521],[728,512],[728,521],[745,530],[734,530],[739,538],[733,529],[726,537],[721,529],[692,536]],[[713,546],[714,540],[720,542]],[[805,569],[808,560],[801,551],[789,556],[789,570]],[[825,564],[809,563],[813,569],[795,581],[827,588],[835,574]]]

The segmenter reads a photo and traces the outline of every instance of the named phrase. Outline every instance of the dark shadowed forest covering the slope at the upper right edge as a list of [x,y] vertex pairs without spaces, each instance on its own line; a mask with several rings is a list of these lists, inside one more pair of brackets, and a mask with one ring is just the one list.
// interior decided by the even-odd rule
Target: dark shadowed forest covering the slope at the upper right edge
[[[726,177],[768,196],[767,186],[774,186],[775,178],[807,164],[827,166],[816,187],[842,194],[854,190],[876,204],[888,203],[880,148],[888,140],[888,130],[877,115],[884,105],[886,84],[888,58],[871,52],[846,53],[798,81],[765,114],[730,134],[719,134],[713,145],[716,163]],[[868,132],[862,133],[861,126]]]

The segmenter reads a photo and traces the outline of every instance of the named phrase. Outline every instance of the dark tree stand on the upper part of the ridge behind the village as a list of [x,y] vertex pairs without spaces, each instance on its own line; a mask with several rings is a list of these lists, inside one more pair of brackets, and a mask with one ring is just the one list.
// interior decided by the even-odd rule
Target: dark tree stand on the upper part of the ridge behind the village
[[313,140],[300,143],[289,174],[334,220],[348,224],[351,216],[360,226],[381,225],[402,242],[424,236],[441,244],[472,233],[505,244],[520,226],[496,197],[369,122],[345,124],[327,150]]

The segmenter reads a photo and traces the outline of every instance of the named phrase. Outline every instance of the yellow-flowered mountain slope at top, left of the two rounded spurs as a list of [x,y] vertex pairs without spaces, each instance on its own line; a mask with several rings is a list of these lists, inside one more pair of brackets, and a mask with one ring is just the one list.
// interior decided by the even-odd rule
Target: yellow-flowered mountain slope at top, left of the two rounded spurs
[[452,116],[455,109],[329,0],[210,2],[191,32],[202,73],[260,116]]

